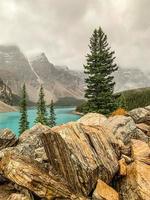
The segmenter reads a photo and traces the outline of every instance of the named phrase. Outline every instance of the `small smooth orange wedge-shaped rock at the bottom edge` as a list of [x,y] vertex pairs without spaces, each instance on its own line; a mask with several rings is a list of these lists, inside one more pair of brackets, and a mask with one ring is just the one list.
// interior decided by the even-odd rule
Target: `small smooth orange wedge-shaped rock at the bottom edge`
[[92,199],[93,200],[119,200],[119,195],[109,185],[107,185],[101,180],[98,180]]

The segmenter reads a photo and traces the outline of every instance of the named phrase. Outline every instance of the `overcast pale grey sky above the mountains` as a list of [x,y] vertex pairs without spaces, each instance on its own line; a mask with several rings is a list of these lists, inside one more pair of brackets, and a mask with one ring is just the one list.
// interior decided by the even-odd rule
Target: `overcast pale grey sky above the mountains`
[[81,69],[101,26],[123,67],[150,68],[150,0],[0,0],[0,43]]

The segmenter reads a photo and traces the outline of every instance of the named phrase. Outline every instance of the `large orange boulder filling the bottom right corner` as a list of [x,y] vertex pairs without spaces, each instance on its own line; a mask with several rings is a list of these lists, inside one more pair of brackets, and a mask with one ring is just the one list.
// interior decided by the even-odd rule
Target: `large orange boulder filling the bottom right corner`
[[150,200],[150,165],[135,161],[127,167],[120,181],[121,200]]

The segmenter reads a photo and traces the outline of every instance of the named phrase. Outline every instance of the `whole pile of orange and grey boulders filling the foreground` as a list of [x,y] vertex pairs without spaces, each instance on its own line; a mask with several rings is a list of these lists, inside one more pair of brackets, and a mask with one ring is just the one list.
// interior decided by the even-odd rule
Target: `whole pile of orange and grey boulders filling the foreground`
[[0,131],[0,200],[150,200],[150,106]]

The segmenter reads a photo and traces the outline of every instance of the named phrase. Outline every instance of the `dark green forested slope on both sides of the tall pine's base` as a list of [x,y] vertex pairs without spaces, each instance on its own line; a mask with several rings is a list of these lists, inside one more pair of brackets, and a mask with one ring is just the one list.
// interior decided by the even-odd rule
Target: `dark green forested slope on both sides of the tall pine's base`
[[[145,107],[150,105],[150,88],[140,88],[127,90],[116,94],[118,98],[119,107],[123,107],[127,111],[134,108]],[[87,103],[80,104],[76,111],[84,113],[87,110]]]

